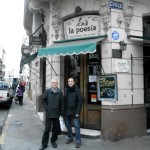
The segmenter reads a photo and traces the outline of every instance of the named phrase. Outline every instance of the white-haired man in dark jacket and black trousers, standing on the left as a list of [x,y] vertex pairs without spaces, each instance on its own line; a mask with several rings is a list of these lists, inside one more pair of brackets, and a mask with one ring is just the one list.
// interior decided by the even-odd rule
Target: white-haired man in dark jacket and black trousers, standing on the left
[[59,117],[64,114],[63,93],[58,88],[58,79],[52,79],[51,88],[46,90],[42,96],[44,108],[46,111],[45,130],[42,137],[42,146],[39,150],[44,150],[49,142],[49,132],[53,124],[51,143],[53,148],[57,147]]

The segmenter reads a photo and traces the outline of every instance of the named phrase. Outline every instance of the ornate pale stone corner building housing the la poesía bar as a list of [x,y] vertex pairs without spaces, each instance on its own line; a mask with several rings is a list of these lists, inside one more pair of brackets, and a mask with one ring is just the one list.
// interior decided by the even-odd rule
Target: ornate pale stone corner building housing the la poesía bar
[[149,0],[25,0],[24,27],[32,39],[46,35],[45,45],[29,43],[38,53],[30,63],[38,111],[51,79],[64,90],[71,76],[83,95],[82,128],[104,140],[147,134]]

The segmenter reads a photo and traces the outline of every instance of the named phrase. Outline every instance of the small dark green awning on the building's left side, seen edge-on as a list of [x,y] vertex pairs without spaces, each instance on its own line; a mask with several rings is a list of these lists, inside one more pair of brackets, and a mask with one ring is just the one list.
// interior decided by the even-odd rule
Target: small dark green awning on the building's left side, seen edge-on
[[36,57],[37,57],[37,53],[35,53],[33,55],[29,55],[27,57],[22,56],[20,66],[23,66],[27,63],[31,63],[33,60],[36,59]]

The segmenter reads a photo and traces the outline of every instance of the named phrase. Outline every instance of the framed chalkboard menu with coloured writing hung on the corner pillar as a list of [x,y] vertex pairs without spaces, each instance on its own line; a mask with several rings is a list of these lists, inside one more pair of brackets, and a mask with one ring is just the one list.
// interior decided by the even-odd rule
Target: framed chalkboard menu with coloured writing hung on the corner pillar
[[117,75],[100,75],[98,76],[98,100],[116,101],[118,100],[117,92]]

